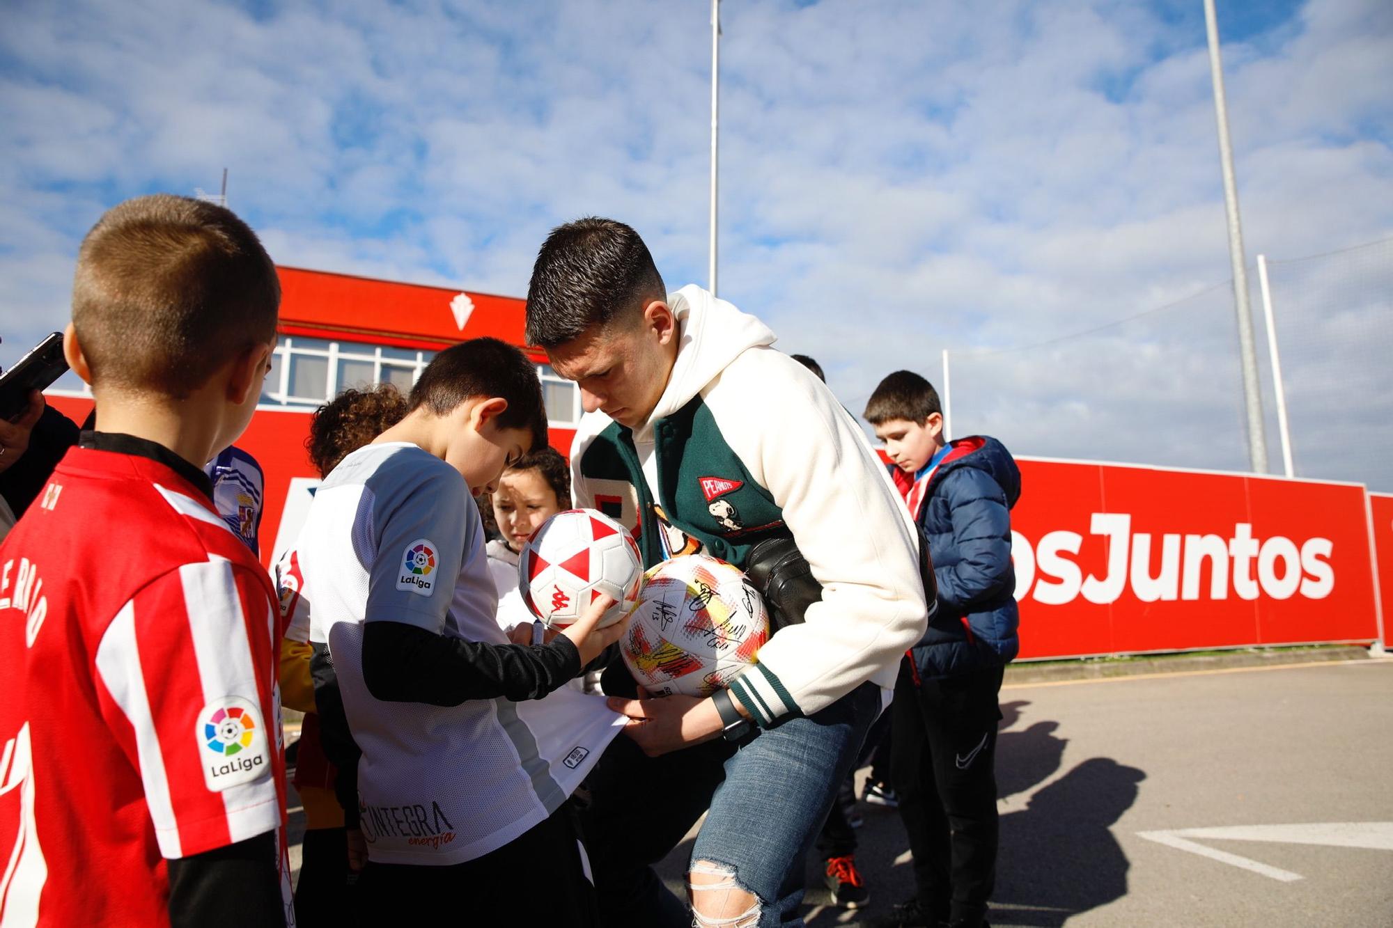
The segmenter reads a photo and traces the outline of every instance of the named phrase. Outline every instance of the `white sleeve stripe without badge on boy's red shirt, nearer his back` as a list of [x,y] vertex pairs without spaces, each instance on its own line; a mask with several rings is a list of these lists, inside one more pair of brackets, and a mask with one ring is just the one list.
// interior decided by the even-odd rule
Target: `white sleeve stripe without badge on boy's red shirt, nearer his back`
[[[145,673],[141,669],[141,654],[135,645],[135,603],[128,602],[116,613],[116,619],[102,635],[96,649],[96,670],[102,677],[116,705],[121,708],[131,727],[135,729],[135,748],[141,765],[141,782],[145,784],[145,804],[150,810],[155,837],[160,856],[182,857],[178,826],[174,818],[174,804],[170,800],[169,778],[164,772],[164,754],[160,750],[159,733],[150,715],[149,697],[145,693]],[[192,732],[189,733],[192,736]]]

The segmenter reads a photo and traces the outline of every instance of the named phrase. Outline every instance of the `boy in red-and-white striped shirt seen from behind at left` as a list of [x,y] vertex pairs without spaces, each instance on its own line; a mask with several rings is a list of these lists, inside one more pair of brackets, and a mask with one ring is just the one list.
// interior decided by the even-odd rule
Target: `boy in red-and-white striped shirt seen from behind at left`
[[279,305],[221,206],[141,196],[82,241],[64,354],[98,429],[0,546],[6,925],[224,924],[228,886],[245,924],[288,920],[276,598],[202,470]]

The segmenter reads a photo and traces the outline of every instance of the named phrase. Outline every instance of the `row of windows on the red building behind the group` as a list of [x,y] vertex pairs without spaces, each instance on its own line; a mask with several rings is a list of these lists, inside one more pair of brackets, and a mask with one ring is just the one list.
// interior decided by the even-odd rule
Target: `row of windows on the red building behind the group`
[[[284,336],[272,355],[270,373],[262,387],[262,405],[316,407],[350,387],[393,383],[408,393],[435,351],[417,351],[359,341],[326,341]],[[574,428],[581,418],[581,392],[556,376],[550,366],[538,365],[547,422]]]

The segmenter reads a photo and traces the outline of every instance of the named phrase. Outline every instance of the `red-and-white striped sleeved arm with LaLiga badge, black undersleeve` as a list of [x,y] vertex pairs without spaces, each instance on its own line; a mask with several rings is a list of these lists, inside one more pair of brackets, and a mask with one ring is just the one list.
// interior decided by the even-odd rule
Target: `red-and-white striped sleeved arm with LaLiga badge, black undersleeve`
[[[252,570],[227,560],[184,564],[125,603],[95,660],[102,712],[141,773],[160,854],[189,861],[171,875],[182,868],[198,875],[194,883],[235,885],[258,911],[274,900],[274,918],[263,924],[284,918],[272,610],[265,578]],[[216,762],[233,757],[237,764]],[[266,865],[248,865],[262,860],[256,849],[266,842]],[[184,911],[201,925],[217,924],[220,915],[205,918],[202,896],[194,896],[181,895]],[[189,921],[181,914],[176,924]]]

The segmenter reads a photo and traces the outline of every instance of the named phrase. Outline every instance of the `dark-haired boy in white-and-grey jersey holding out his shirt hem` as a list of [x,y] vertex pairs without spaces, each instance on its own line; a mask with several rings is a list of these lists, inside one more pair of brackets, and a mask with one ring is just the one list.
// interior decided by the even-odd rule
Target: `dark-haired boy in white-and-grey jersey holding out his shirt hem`
[[[341,698],[362,751],[330,758],[357,772],[357,800],[340,796],[366,843],[365,918],[457,897],[478,924],[595,924],[567,800],[623,719],[561,687],[624,624],[595,628],[600,598],[549,644],[508,644],[469,500],[546,443],[536,368],[496,339],[464,341],[408,405],[327,475],[295,545],[325,745],[341,744]],[[515,892],[520,874],[546,874],[546,892]]]

